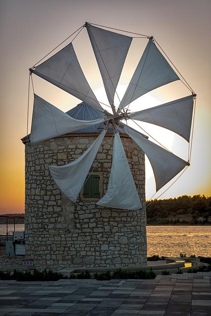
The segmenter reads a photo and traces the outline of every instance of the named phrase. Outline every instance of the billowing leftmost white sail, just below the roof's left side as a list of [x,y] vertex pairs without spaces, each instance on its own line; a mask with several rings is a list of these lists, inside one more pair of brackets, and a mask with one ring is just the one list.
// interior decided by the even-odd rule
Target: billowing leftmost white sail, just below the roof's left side
[[30,141],[31,144],[35,144],[105,120],[106,118],[94,120],[71,118],[68,114],[35,94]]

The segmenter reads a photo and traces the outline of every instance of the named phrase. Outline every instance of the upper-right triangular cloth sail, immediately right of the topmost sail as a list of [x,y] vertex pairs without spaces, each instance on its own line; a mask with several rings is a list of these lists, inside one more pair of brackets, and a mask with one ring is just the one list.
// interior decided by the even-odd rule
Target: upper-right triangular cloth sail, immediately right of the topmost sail
[[179,77],[152,39],[149,39],[119,109],[125,108],[141,95],[175,80],[179,80]]

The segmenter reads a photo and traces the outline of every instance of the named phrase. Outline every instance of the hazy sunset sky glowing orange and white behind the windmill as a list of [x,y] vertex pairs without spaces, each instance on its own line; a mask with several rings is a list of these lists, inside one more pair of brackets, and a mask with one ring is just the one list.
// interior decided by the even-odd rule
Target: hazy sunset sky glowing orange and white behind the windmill
[[[27,133],[29,68],[86,21],[153,35],[197,93],[191,165],[161,198],[210,196],[210,0],[0,0],[0,213],[24,212],[24,145],[21,138]],[[92,90],[100,101],[108,103],[85,28],[73,44]],[[146,44],[146,39],[132,42],[118,86],[120,97]],[[35,75],[33,82],[38,95],[64,112],[81,102]],[[176,81],[134,101],[130,109],[142,110],[189,94],[181,81]],[[30,131],[32,89],[29,105]],[[161,127],[147,123],[141,126],[175,155],[187,160],[186,141]],[[155,181],[146,159],[146,197],[154,193]]]

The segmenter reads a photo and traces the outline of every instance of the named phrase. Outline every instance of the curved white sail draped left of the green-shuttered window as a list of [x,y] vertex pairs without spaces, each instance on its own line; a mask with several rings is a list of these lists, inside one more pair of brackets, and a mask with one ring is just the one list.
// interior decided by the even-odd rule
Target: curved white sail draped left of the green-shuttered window
[[82,156],[63,166],[48,166],[59,189],[73,202],[77,200],[106,130],[95,139]]

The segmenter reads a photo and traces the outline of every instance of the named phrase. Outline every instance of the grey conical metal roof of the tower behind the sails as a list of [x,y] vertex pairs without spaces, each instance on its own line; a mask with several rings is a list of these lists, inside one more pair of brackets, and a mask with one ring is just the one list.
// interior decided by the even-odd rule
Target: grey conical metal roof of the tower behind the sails
[[[75,118],[75,119],[80,119],[80,120],[93,120],[93,119],[97,119],[97,118],[103,118],[105,117],[105,113],[94,109],[93,107],[91,107],[90,105],[82,102],[80,104],[78,104],[75,108],[69,110],[68,112],[66,112],[66,114],[68,114],[70,117]],[[80,130],[74,131],[71,134],[76,134],[76,133],[101,133],[102,130],[104,129],[105,124],[104,123],[100,123],[100,124],[96,124],[93,126],[89,126],[89,127],[85,127],[82,128]],[[118,131],[121,134],[126,134],[126,132],[124,131],[123,128],[118,127]],[[114,128],[112,126],[112,124],[109,125],[108,128],[108,132],[109,133],[114,133]]]

